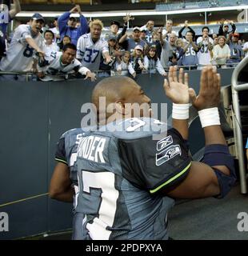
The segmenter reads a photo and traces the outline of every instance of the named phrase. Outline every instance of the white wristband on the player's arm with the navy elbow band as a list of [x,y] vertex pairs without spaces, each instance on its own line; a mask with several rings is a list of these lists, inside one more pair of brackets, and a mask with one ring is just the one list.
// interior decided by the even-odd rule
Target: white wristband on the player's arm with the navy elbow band
[[198,111],[202,128],[206,126],[220,126],[218,107]]

